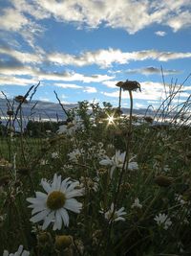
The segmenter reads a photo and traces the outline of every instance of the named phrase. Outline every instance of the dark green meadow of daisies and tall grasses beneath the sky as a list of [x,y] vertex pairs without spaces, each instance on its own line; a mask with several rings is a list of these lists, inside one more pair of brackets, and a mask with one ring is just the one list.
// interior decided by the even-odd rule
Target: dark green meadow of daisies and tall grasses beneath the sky
[[16,109],[8,101],[1,255],[191,255],[190,97],[175,105],[182,84],[169,87],[156,115],[140,118],[138,86],[124,83],[128,115],[84,101],[40,135],[23,129],[22,107],[36,88],[15,98]]

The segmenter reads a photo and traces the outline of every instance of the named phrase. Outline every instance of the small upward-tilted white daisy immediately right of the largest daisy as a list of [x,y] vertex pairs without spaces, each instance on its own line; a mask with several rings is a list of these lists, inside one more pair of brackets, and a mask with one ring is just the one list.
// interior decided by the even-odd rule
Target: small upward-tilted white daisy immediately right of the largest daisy
[[119,210],[114,211],[114,203],[111,204],[111,208],[104,213],[103,211],[99,211],[100,213],[104,214],[104,217],[109,222],[111,221],[125,221],[125,219],[121,216],[126,215],[124,212],[124,207],[121,207]]

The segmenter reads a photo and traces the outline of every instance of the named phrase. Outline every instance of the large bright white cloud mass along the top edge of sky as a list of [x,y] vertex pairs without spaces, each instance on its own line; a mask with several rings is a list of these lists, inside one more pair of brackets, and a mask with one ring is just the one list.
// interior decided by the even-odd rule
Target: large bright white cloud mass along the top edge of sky
[[[59,22],[74,22],[79,29],[84,25],[97,28],[100,24],[105,24],[108,27],[124,29],[130,34],[153,23],[168,25],[174,31],[190,26],[189,12],[184,11],[189,10],[190,5],[189,0],[36,0],[38,12],[47,12],[45,16],[52,14]],[[182,21],[184,13],[188,18],[183,18]],[[34,15],[41,18],[36,13]]]

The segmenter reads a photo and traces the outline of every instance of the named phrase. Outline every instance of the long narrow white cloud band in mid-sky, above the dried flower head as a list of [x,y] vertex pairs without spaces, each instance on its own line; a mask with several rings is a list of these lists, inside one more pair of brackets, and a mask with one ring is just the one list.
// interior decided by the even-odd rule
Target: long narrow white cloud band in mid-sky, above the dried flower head
[[47,58],[58,65],[84,66],[96,64],[106,68],[113,63],[125,64],[136,60],[157,59],[159,61],[167,61],[170,59],[191,58],[191,53],[159,52],[152,49],[138,52],[121,52],[119,49],[109,48],[108,50],[100,49],[95,52],[85,52],[79,56],[53,53],[48,55]]

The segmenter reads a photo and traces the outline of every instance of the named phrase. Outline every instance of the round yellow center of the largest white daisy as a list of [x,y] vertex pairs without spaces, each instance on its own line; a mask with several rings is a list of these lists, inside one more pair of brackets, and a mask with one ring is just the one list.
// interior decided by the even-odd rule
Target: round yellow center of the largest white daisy
[[66,202],[66,197],[64,193],[60,191],[53,191],[47,198],[47,206],[51,210],[58,210],[62,208],[65,202]]

